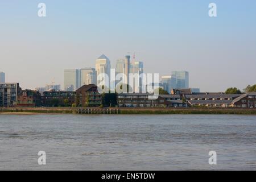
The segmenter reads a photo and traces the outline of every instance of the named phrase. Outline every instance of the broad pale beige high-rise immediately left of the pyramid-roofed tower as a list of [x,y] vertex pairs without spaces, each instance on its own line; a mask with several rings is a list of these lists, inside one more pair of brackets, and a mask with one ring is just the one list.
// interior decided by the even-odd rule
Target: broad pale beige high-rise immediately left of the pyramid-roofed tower
[[94,68],[83,68],[80,69],[80,86],[82,85],[90,85],[94,84],[96,85],[97,82],[97,75],[96,75],[96,70]]

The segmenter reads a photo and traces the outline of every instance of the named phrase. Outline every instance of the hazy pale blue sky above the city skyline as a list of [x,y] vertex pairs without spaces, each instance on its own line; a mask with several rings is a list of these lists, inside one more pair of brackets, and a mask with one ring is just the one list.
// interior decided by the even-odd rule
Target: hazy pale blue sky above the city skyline
[[94,67],[102,53],[115,67],[131,51],[145,72],[186,70],[202,91],[256,84],[256,1],[0,1],[0,71],[23,89],[63,86],[63,69]]

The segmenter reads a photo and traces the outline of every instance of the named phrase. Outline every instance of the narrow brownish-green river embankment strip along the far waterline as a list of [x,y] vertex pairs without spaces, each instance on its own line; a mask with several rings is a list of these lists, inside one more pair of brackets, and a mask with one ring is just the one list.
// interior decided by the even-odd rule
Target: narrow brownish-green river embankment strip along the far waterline
[[[98,114],[97,110],[118,110],[118,114],[242,114],[256,115],[256,109],[249,108],[71,108],[71,107],[9,107],[1,108],[0,115],[35,115],[35,114],[79,114],[79,109],[96,110],[92,114]],[[117,113],[116,113],[117,114]],[[88,115],[88,114],[81,114]],[[89,114],[90,115],[90,114]]]

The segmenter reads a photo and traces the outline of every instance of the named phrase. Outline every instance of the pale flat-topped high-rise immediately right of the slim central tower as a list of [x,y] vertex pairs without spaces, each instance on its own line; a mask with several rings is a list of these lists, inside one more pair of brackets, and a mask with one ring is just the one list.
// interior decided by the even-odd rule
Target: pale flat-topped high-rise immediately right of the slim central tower
[[[143,73],[143,62],[141,61],[133,61],[129,65],[129,74],[138,74],[140,76]],[[134,75],[135,76],[135,75]],[[129,77],[129,76],[128,76]],[[138,86],[136,86],[135,81],[139,81]],[[131,80],[129,80],[129,85],[133,87],[134,92],[141,92],[142,90],[142,78],[139,77],[139,79],[133,80],[133,85],[130,85]]]

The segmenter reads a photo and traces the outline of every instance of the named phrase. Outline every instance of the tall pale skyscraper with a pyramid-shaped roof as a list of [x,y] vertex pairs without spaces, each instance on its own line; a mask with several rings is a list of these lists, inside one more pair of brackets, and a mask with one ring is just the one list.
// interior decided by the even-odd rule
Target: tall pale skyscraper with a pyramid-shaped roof
[[[105,55],[101,55],[96,60],[97,86],[101,84],[108,85],[108,87],[110,87],[110,69],[110,60]],[[108,80],[106,80],[106,78],[101,74],[108,75]]]

